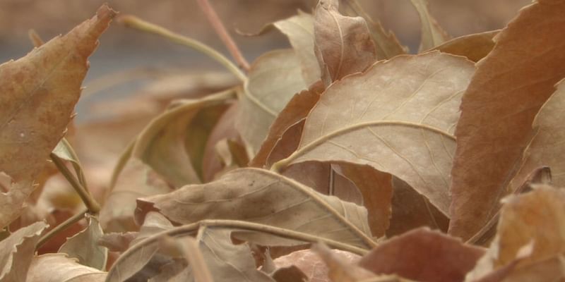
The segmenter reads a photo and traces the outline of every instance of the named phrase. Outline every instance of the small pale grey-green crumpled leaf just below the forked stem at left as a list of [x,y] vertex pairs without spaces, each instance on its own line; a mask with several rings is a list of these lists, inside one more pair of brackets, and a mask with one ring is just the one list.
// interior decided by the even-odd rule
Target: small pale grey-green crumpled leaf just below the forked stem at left
[[96,217],[87,214],[86,218],[88,226],[73,237],[67,238],[59,248],[59,252],[66,253],[70,258],[78,259],[79,264],[103,271],[106,269],[108,249],[98,245],[98,240],[104,235],[104,232]]

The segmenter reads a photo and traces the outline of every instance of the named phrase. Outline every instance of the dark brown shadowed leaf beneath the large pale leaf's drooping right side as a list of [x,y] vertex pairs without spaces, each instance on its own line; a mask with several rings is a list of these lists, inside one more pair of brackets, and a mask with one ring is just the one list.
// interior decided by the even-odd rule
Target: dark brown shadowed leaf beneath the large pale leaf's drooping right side
[[392,214],[390,226],[386,230],[387,237],[421,226],[447,232],[448,217],[430,204],[424,195],[397,177],[392,178],[392,187]]

